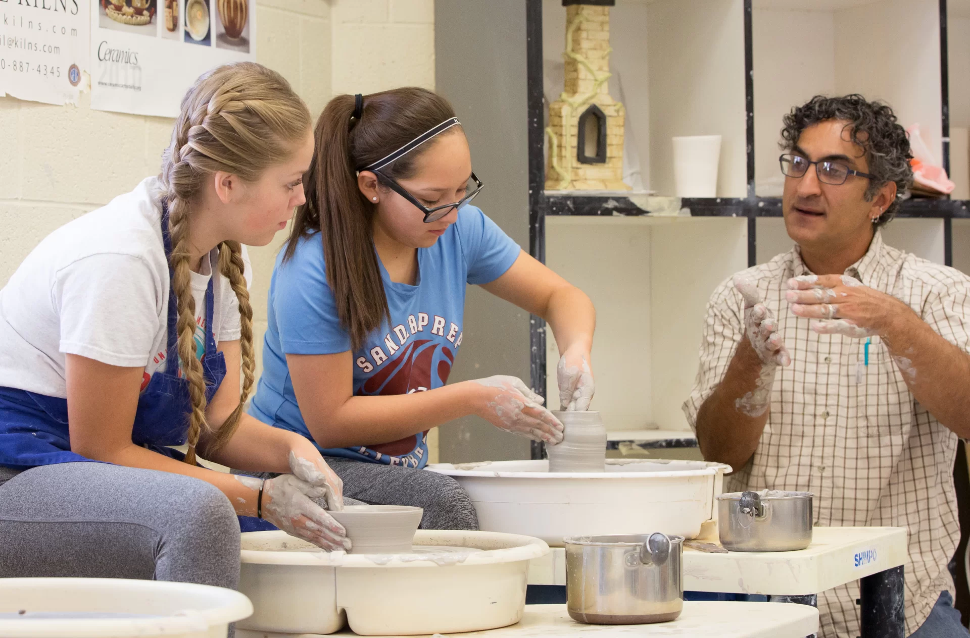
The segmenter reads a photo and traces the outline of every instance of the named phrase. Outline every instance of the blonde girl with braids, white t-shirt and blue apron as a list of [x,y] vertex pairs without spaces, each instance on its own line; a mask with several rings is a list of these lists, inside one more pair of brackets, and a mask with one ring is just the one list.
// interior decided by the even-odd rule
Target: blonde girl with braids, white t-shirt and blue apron
[[312,153],[286,80],[219,67],[182,100],[161,175],[50,234],[0,290],[0,577],[236,587],[237,516],[349,546],[320,453],[242,410],[242,245],[269,243],[305,202]]

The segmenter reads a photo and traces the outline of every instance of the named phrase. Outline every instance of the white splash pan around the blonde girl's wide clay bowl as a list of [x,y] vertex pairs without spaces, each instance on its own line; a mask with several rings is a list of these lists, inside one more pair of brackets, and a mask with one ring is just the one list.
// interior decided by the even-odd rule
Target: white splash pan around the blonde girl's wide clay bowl
[[247,532],[240,591],[254,613],[236,635],[495,629],[522,619],[529,561],[548,553],[537,538],[488,531],[418,530],[407,554],[327,553],[282,531]]

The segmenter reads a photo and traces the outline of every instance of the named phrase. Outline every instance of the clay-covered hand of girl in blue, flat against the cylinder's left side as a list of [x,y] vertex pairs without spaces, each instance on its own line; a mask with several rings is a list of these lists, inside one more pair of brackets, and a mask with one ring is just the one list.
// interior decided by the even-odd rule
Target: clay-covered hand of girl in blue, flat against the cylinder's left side
[[522,379],[497,374],[471,383],[478,390],[475,413],[496,428],[553,445],[563,440],[563,424]]

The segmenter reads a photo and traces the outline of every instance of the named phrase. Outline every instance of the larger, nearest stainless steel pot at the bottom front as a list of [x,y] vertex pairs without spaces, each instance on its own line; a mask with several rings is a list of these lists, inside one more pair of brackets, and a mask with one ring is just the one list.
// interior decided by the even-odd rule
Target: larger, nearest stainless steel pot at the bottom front
[[571,536],[566,597],[574,621],[643,624],[672,621],[684,608],[683,536]]

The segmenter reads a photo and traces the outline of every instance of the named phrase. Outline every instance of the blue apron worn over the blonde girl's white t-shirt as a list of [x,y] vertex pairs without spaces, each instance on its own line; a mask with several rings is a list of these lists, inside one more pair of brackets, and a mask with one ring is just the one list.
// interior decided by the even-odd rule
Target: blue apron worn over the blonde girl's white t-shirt
[[[162,205],[162,239],[166,257],[172,254],[168,208]],[[170,269],[169,275],[172,272]],[[226,360],[215,349],[212,336],[212,278],[206,289],[206,350],[202,369],[206,398],[212,400],[226,375]],[[171,279],[170,279],[171,280]],[[184,445],[188,438],[188,415],[192,409],[188,381],[178,366],[178,302],[170,290],[166,371],[155,371],[138,399],[131,440],[137,445],[181,461],[180,452],[169,445]],[[26,469],[53,463],[90,461],[71,452],[67,399],[47,397],[16,388],[0,388],[0,465]]]

